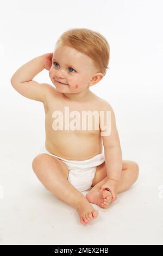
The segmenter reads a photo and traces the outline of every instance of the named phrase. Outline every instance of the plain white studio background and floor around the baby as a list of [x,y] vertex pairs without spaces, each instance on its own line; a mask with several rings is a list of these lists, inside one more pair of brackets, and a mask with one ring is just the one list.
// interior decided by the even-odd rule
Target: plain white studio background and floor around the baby
[[[161,0],[1,1],[0,244],[162,244],[162,8]],[[21,65],[53,52],[71,28],[109,42],[110,69],[91,90],[114,108],[123,159],[140,168],[136,184],[109,209],[97,206],[99,217],[87,227],[33,173],[45,142],[43,105],[10,84]],[[51,83],[47,70],[34,80]]]

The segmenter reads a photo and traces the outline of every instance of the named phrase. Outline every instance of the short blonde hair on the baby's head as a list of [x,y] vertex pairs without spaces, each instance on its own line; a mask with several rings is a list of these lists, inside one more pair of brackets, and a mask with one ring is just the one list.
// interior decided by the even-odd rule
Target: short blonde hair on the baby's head
[[57,41],[89,56],[105,76],[109,64],[110,46],[103,35],[87,28],[73,28],[61,34]]

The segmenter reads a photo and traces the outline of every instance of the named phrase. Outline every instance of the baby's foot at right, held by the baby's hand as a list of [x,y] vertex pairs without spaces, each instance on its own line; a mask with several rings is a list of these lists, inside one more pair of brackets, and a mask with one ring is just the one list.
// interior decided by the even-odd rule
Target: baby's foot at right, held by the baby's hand
[[97,204],[102,208],[107,208],[111,202],[112,194],[108,190],[98,192],[98,188],[92,188],[92,190],[86,194],[86,199],[92,204]]

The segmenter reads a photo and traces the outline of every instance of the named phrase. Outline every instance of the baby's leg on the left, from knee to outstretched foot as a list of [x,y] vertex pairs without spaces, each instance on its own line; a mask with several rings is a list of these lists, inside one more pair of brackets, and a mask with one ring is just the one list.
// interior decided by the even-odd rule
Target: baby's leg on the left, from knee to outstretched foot
[[67,180],[68,170],[60,159],[48,154],[39,154],[34,158],[32,168],[47,190],[78,211],[82,224],[97,217],[98,212]]

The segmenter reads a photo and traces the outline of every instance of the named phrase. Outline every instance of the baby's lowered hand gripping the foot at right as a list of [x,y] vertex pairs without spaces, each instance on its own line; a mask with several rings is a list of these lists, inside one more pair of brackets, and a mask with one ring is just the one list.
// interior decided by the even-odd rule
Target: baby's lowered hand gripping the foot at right
[[109,190],[112,194],[111,202],[117,199],[117,182],[114,180],[106,180],[103,185],[99,187],[99,192]]

